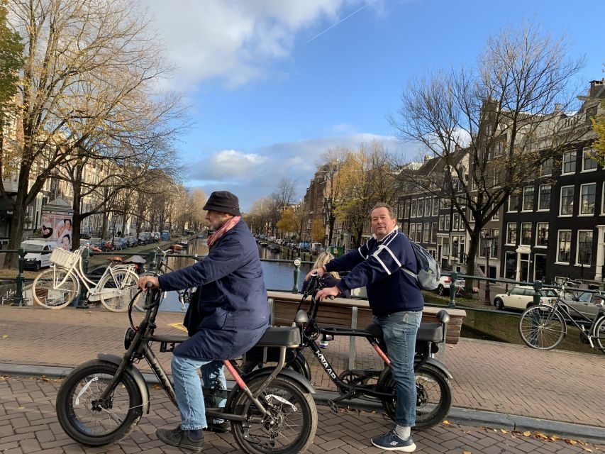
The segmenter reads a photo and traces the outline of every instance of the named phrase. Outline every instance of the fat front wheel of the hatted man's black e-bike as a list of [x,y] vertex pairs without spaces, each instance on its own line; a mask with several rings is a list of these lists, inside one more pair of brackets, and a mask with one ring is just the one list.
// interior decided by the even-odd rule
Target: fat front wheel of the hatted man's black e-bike
[[57,419],[70,438],[88,446],[102,446],[125,438],[143,415],[143,402],[133,377],[120,381],[101,399],[118,365],[91,360],[67,375],[57,393]]

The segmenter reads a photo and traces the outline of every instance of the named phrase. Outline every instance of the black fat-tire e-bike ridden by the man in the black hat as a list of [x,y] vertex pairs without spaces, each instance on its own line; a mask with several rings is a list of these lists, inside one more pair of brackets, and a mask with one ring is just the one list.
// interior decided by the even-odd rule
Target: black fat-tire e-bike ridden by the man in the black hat
[[[160,352],[172,352],[174,345],[187,340],[187,336],[154,333],[162,300],[159,290],[147,291],[145,316],[138,327],[133,324],[130,305],[131,327],[126,330],[126,353],[122,358],[99,354],[96,360],[76,367],[63,381],[57,393],[57,417],[65,433],[78,443],[115,443],[149,412],[149,389],[134,365],[140,360],[148,362],[162,389],[177,405],[172,384],[151,346],[159,343]],[[311,393],[315,390],[309,380],[284,368],[287,348],[295,348],[300,341],[299,328],[268,328],[257,346],[279,349],[276,366],[242,376],[233,362],[223,361],[236,382],[224,408],[211,404],[219,400],[213,398],[215,390],[204,390],[209,403],[206,417],[231,421],[235,441],[246,453],[296,454],[313,443],[317,410]]]

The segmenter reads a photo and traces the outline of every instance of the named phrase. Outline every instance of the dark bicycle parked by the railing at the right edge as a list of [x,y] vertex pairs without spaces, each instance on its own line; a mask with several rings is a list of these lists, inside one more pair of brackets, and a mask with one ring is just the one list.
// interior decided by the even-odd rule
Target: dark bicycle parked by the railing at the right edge
[[[565,294],[565,284],[560,287],[559,295]],[[599,311],[594,319],[566,304],[557,296],[553,304],[538,304],[528,307],[519,320],[519,335],[528,347],[550,350],[559,345],[567,336],[567,325],[573,324],[579,329],[580,338],[591,348],[605,353],[605,297],[594,294],[600,299]]]

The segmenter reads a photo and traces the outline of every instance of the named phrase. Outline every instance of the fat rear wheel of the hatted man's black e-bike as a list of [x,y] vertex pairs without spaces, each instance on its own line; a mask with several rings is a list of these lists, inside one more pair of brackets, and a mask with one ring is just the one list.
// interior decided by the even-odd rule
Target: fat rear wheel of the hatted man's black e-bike
[[[255,393],[265,380],[267,376],[261,375],[246,384]],[[278,375],[262,391],[258,399],[267,409],[265,416],[241,389],[236,392],[229,413],[243,415],[248,421],[233,421],[231,427],[235,441],[246,453],[302,453],[313,443],[317,430],[315,401],[293,380]],[[252,422],[252,418],[262,421]]]

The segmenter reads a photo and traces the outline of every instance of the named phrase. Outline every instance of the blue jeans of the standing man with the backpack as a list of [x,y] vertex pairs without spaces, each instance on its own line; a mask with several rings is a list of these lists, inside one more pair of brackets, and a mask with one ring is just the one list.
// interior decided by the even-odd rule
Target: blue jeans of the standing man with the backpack
[[387,316],[374,316],[374,323],[382,327],[382,337],[387,344],[387,355],[391,360],[397,395],[395,422],[400,426],[412,427],[416,424],[416,376],[413,372],[413,356],[421,319],[422,311],[402,311]]

